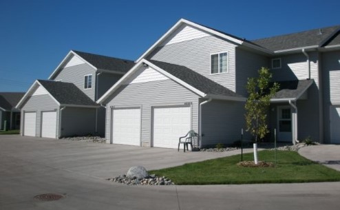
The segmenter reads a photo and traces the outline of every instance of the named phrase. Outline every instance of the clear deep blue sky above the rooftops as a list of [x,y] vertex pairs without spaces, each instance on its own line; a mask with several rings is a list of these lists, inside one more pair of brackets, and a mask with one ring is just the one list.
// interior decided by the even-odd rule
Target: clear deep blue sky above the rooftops
[[180,18],[248,40],[340,25],[337,0],[0,0],[0,92],[47,79],[70,50],[136,60]]

